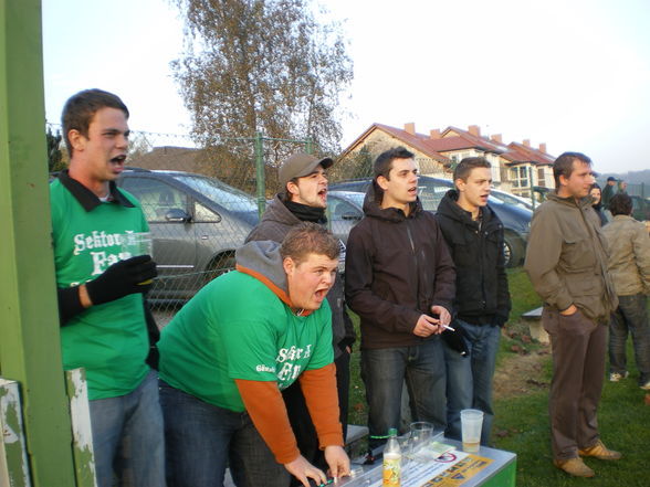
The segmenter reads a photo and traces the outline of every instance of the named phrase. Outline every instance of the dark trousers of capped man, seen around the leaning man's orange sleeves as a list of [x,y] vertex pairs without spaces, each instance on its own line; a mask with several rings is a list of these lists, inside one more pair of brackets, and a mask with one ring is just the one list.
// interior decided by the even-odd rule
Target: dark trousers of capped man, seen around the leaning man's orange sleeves
[[[349,353],[344,351],[336,358],[334,364],[336,366],[339,421],[343,426],[343,437],[345,441],[349,402]],[[316,428],[312,422],[312,416],[307,410],[307,403],[305,402],[300,383],[296,381],[282,391],[282,398],[284,399],[286,413],[301,454],[313,465],[326,472],[328,466],[325,462],[324,453],[319,447]],[[292,477],[292,485],[298,486],[302,484],[297,478]]]

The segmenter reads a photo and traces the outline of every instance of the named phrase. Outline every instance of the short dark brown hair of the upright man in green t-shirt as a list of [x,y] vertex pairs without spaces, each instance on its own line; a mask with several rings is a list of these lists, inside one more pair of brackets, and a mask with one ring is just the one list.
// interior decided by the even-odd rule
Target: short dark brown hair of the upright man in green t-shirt
[[128,118],[128,108],[124,102],[117,95],[103,89],[84,89],[72,95],[65,102],[61,125],[63,126],[63,137],[65,138],[65,147],[67,147],[70,157],[72,157],[72,145],[67,138],[70,130],[78,130],[81,135],[87,137],[91,120],[98,110],[106,107],[117,108],[124,112],[124,115]]

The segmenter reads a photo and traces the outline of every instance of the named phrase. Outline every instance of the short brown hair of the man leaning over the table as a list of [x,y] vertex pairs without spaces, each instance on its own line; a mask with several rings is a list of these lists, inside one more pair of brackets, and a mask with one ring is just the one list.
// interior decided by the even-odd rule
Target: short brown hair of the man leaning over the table
[[301,264],[310,254],[337,260],[340,253],[338,240],[323,225],[302,222],[293,226],[280,246],[282,258],[291,257]]

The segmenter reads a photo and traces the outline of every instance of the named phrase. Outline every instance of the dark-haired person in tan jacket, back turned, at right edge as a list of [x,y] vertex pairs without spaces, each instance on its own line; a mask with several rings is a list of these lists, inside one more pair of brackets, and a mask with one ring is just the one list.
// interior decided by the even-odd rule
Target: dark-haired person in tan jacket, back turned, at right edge
[[632,199],[615,194],[609,203],[614,220],[602,227],[609,242],[609,273],[618,295],[618,308],[609,327],[609,380],[628,377],[626,342],[632,335],[639,369],[639,387],[650,390],[650,237],[646,225],[632,219]]

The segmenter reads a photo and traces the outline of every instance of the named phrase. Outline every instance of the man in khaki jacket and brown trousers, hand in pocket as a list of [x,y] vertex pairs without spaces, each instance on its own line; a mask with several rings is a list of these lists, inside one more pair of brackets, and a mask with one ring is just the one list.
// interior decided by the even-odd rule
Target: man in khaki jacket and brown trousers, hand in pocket
[[605,375],[607,327],[618,305],[607,271],[607,242],[591,209],[591,160],[565,152],[553,165],[555,193],[533,215],[525,268],[544,299],[553,381],[548,400],[556,467],[577,477],[594,470],[580,457],[614,460],[600,441],[596,411]]

